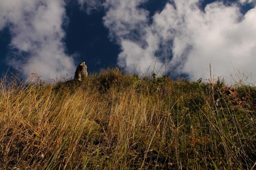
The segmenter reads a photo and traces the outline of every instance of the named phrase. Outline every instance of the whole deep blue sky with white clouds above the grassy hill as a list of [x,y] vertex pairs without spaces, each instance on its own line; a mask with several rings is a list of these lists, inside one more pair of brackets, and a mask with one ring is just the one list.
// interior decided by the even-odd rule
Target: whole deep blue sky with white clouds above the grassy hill
[[0,72],[256,82],[256,0],[0,0]]

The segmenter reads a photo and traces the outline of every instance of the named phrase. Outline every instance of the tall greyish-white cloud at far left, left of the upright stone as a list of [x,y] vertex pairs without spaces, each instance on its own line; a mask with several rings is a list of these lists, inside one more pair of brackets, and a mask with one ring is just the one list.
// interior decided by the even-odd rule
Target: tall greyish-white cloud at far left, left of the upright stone
[[[9,26],[15,64],[26,60],[24,77],[31,72],[42,79],[73,76],[74,61],[65,54],[62,42],[64,18],[65,3],[61,0],[0,0],[0,29]],[[22,57],[24,52],[28,53],[26,58]]]

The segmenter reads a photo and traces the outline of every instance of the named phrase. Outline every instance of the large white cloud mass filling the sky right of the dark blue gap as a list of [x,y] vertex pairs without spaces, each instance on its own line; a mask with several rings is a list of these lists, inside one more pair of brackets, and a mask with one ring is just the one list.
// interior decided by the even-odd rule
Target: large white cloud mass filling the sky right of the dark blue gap
[[[118,58],[121,67],[150,73],[159,45],[171,42],[167,47],[167,71],[178,66],[177,73],[189,74],[192,80],[207,79],[211,63],[216,76],[230,78],[232,74],[238,78],[239,69],[241,73],[252,73],[256,80],[256,7],[243,15],[235,3],[226,6],[216,1],[202,10],[198,7],[200,0],[172,0],[155,13],[150,23],[148,11],[139,8],[144,2],[107,0],[104,4],[104,24],[122,48]],[[155,65],[155,70],[162,72],[163,55]]]

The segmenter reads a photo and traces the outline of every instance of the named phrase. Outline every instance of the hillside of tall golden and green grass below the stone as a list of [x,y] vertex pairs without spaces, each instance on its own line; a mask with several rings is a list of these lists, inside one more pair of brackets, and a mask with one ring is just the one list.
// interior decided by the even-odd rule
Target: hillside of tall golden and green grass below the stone
[[256,168],[256,88],[140,79],[81,86],[0,82],[0,167],[10,170]]

